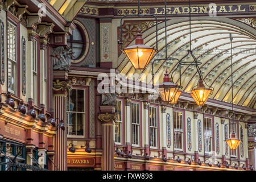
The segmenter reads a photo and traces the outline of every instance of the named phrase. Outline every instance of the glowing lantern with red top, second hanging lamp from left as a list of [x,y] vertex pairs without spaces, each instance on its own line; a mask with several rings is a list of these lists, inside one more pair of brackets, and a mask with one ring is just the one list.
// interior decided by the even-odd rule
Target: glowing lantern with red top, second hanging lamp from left
[[[163,82],[159,84],[159,93],[160,97],[162,98],[163,102],[173,102],[179,98],[177,97],[177,91],[179,90],[180,86],[174,84],[174,82],[170,81],[169,74],[164,74]],[[179,93],[180,94],[180,93]]]

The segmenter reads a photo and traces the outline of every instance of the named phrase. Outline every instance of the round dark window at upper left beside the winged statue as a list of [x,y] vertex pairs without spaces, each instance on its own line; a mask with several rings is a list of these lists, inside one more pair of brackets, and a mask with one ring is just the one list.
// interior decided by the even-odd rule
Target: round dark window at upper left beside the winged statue
[[73,51],[72,60],[80,59],[85,48],[85,36],[83,35],[81,28],[77,25],[77,28],[73,30],[73,34],[68,36],[68,46]]

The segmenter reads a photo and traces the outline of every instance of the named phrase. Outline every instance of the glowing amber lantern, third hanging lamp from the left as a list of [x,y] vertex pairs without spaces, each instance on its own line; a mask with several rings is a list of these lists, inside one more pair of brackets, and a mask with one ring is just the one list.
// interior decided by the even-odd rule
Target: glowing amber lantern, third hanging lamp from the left
[[208,97],[210,96],[212,89],[205,88],[203,80],[200,80],[197,88],[192,89],[191,92],[193,100],[195,100],[197,105],[201,106],[204,105],[205,102],[208,100]]

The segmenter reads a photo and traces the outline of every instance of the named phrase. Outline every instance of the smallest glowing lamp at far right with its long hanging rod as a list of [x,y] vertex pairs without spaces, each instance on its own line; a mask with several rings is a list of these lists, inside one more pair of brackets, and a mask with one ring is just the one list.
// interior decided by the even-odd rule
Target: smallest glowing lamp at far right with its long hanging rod
[[[229,34],[229,39],[230,39],[230,45],[231,45],[231,85],[232,85],[232,124],[229,125],[236,125],[234,123],[234,103],[233,103],[233,52],[232,52],[232,34]],[[239,123],[240,124],[240,123]],[[241,124],[240,124],[241,125]],[[242,125],[241,125],[242,127]],[[234,128],[234,127],[232,127]],[[230,129],[230,127],[229,127]],[[236,150],[237,147],[240,145],[241,140],[236,137],[236,133],[233,131],[232,134],[229,134],[229,138],[225,139],[226,143],[228,144],[230,150]]]

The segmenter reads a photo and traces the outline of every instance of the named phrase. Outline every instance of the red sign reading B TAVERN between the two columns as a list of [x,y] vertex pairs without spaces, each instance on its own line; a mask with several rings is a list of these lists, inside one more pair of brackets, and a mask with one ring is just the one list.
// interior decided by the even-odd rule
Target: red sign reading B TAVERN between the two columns
[[94,158],[69,158],[68,167],[94,167]]

